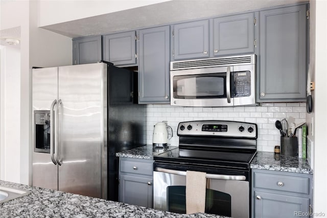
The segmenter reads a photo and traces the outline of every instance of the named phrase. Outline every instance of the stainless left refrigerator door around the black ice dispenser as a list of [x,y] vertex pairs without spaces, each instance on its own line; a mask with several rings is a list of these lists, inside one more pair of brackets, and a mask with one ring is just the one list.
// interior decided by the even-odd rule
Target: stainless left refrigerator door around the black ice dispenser
[[[33,108],[33,148],[35,147],[34,111],[50,111],[52,102],[58,97],[58,68],[33,69],[32,72]],[[58,190],[58,166],[53,164],[51,155],[34,152],[33,186]]]

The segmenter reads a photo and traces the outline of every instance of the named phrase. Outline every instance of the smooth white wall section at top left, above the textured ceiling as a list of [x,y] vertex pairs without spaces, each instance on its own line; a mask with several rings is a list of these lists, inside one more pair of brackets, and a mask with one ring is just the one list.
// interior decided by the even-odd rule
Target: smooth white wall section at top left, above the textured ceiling
[[[40,1],[38,27],[137,8],[167,0]],[[60,16],[58,16],[60,14]]]

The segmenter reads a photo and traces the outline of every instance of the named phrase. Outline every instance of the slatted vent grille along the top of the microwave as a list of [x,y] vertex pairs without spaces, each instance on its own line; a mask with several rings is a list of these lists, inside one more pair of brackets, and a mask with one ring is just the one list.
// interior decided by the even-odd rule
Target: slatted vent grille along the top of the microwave
[[171,62],[171,70],[188,70],[197,68],[215,68],[223,66],[237,66],[254,64],[255,55],[240,55],[221,58],[206,58]]

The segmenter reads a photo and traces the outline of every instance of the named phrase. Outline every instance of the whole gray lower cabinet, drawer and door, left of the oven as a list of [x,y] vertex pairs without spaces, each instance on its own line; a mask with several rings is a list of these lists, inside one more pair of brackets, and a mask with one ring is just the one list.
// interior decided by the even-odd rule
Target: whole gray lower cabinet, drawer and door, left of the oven
[[119,201],[153,207],[153,160],[120,158]]

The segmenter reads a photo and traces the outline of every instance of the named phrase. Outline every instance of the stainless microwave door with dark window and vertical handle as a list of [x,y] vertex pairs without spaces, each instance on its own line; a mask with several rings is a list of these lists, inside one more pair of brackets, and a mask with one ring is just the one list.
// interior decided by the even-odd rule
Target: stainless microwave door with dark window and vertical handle
[[233,66],[170,72],[171,105],[233,106]]

